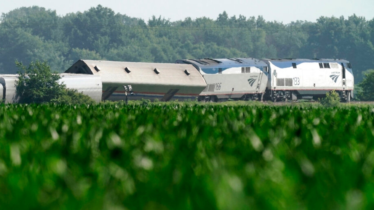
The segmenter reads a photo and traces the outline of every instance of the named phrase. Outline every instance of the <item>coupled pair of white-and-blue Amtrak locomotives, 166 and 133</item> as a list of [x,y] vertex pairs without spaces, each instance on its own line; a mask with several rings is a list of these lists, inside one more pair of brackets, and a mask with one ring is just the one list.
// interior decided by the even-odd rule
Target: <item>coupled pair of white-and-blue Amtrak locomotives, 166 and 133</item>
[[207,86],[199,101],[318,100],[334,90],[342,102],[353,98],[352,65],[344,59],[181,59],[193,65]]

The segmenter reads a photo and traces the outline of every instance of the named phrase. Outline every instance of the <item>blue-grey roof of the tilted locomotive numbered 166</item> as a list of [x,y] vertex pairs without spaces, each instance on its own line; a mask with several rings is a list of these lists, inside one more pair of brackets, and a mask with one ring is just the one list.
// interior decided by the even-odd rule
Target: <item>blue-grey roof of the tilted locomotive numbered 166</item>
[[198,67],[232,67],[232,66],[266,66],[266,63],[256,58],[204,58],[177,60],[178,64],[193,64]]

